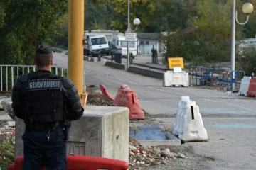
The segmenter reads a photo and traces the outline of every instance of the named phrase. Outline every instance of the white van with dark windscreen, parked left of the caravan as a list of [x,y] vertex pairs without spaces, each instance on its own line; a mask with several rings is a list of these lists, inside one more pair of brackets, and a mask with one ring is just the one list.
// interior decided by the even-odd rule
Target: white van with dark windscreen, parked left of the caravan
[[105,35],[86,35],[84,45],[84,55],[95,57],[101,51],[101,54],[110,55],[110,47]]

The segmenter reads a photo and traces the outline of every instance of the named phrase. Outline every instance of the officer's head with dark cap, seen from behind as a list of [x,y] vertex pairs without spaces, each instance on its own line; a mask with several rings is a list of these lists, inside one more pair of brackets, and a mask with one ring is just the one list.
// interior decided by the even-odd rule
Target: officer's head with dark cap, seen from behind
[[36,50],[34,60],[36,61],[36,66],[38,67],[49,66],[50,60],[53,60],[53,52],[50,50],[48,45],[43,42]]

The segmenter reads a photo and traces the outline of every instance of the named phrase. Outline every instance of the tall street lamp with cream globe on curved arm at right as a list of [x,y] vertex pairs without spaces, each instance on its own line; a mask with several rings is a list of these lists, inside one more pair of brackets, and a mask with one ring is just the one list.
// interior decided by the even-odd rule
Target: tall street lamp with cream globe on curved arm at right
[[[249,15],[254,10],[254,7],[250,3],[245,3],[242,6],[242,11],[247,15],[247,21],[249,20]],[[233,86],[235,86],[235,21],[238,22],[238,11],[235,10],[235,0],[233,0],[233,18],[232,18],[232,46],[231,46],[231,94],[233,94]],[[244,25],[245,23],[240,23],[241,25]]]

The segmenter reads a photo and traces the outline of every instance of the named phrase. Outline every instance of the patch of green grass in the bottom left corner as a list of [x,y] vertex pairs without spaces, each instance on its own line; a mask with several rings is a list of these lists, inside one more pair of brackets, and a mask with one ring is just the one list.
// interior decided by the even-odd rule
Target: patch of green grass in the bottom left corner
[[8,170],[8,166],[14,164],[14,145],[0,138],[0,168]]

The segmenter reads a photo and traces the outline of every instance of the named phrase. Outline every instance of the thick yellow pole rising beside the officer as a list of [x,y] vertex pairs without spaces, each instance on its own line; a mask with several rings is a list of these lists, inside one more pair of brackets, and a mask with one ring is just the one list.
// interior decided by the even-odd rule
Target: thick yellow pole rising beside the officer
[[68,77],[83,92],[83,39],[85,0],[68,1]]

